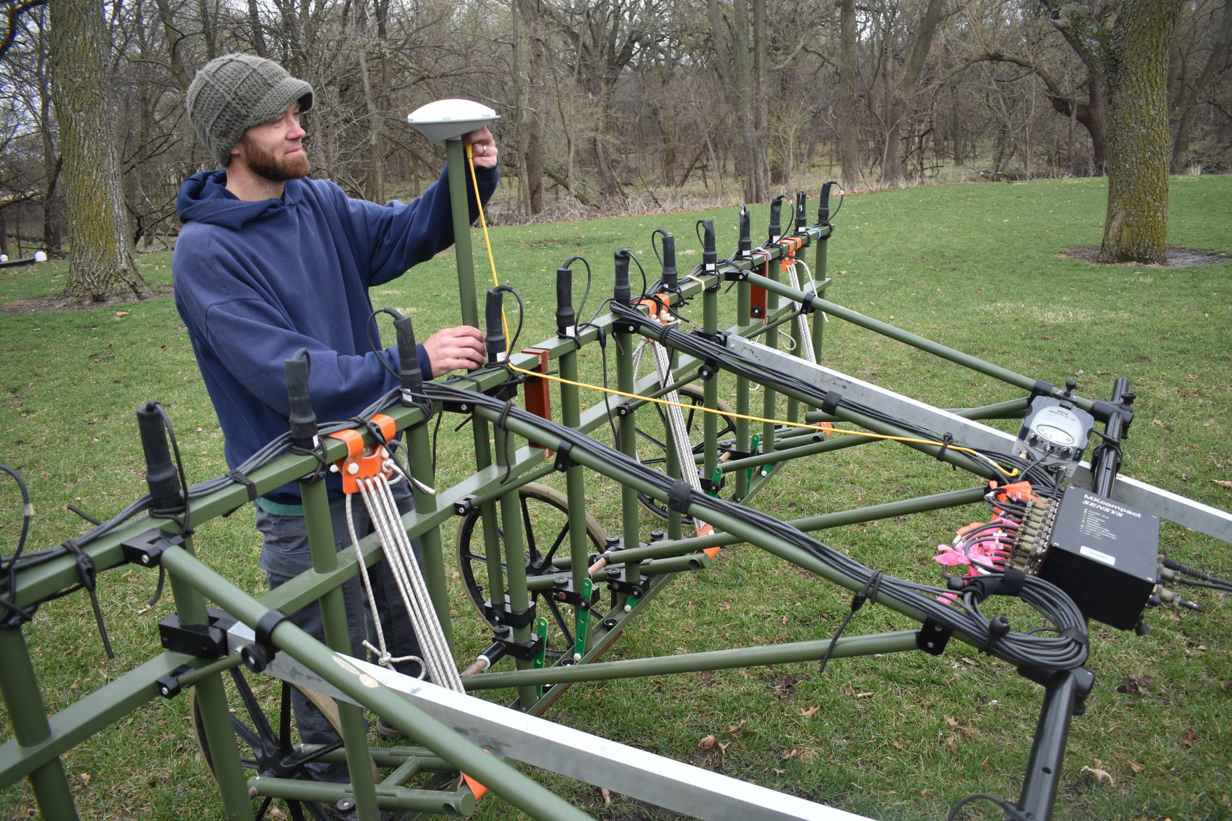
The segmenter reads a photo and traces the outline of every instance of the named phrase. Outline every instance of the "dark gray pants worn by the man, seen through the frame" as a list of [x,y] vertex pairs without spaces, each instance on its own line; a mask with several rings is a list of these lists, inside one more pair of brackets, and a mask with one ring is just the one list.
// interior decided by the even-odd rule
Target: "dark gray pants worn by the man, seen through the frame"
[[[410,489],[405,481],[392,487],[398,510],[403,513],[414,507]],[[359,497],[351,500],[351,513],[355,522],[355,533],[363,538],[372,533],[372,523],[363,501]],[[338,550],[351,550],[351,537],[346,528],[346,506],[330,511],[334,526],[334,545]],[[308,550],[308,531],[302,516],[277,516],[261,508],[256,511],[256,529],[264,537],[261,547],[261,567],[270,583],[270,590],[291,581],[306,570],[312,570],[312,554]],[[415,558],[421,560],[419,540],[413,543]],[[381,627],[384,630],[384,639],[389,655],[394,659],[400,656],[419,656],[419,641],[410,628],[410,619],[407,608],[402,603],[402,595],[394,581],[393,572],[384,559],[368,569],[372,580],[372,596],[376,598],[377,613],[381,618]],[[363,639],[368,639],[372,646],[379,646],[376,638],[376,629],[372,624],[372,611],[367,603],[367,595],[363,590],[363,581],[359,575],[347,580],[342,587],[342,598],[346,602],[346,622],[351,629],[351,655],[363,659],[366,649]],[[308,634],[325,640],[325,629],[322,622],[320,606],[312,602],[291,614],[291,622],[302,628]],[[419,663],[407,661],[395,663],[394,667],[400,673],[419,676]],[[298,688],[292,689],[292,705],[294,708],[296,723],[299,726],[299,739],[304,743],[330,743],[338,739],[338,732],[330,726],[325,716],[304,698]],[[345,764],[309,763],[309,771],[317,780],[323,782],[349,782],[350,777]]]

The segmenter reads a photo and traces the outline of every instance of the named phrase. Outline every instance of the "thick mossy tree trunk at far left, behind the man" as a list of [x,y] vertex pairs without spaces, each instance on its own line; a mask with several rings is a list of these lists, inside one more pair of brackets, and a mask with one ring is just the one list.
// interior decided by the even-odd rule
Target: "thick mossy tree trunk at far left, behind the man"
[[115,108],[103,69],[107,42],[100,0],[52,4],[52,89],[69,223],[69,281],[63,295],[80,302],[152,295],[129,245]]

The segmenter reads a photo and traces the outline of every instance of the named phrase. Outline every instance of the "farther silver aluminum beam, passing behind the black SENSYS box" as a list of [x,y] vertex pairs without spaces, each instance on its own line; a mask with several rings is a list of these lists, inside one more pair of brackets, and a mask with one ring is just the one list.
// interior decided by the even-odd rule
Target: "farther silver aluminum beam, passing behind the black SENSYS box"
[[[1004,431],[933,407],[910,396],[878,388],[833,368],[806,362],[797,356],[766,347],[754,340],[728,336],[727,347],[733,353],[813,384],[819,390],[835,390],[857,402],[877,407],[913,425],[926,427],[936,433],[950,433],[955,439],[975,448],[1013,453],[1015,437]],[[1090,490],[1090,463],[1083,462],[1078,467],[1072,483]],[[1120,475],[1112,485],[1111,496],[1140,511],[1154,513],[1159,518],[1232,544],[1232,513],[1227,511]]]

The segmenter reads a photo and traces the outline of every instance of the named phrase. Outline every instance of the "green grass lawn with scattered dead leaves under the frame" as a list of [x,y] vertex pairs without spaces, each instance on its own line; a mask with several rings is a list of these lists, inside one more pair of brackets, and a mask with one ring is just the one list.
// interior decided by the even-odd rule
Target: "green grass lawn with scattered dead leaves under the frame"
[[[1129,377],[1140,399],[1125,473],[1227,510],[1232,492],[1216,480],[1232,479],[1232,265],[1098,267],[1061,258],[1067,247],[1099,242],[1105,196],[1099,180],[851,196],[835,219],[828,295],[1019,373],[1056,384],[1073,378],[1087,395],[1104,398],[1116,377]],[[1230,213],[1232,177],[1173,177],[1169,244],[1232,252]],[[526,304],[521,345],[552,332],[553,271],[565,257],[584,254],[595,270],[589,315],[610,290],[615,247],[633,249],[653,268],[649,233],[665,228],[687,268],[699,261],[699,218],[716,222],[721,249],[734,247],[734,209],[493,229],[501,282]],[[765,207],[754,209],[755,239],[765,218]],[[140,260],[148,279],[169,281],[168,254]],[[382,288],[373,302],[408,311],[420,334],[456,324],[452,266],[445,254]],[[64,276],[65,265],[55,262],[0,272],[0,302],[51,295]],[[595,353],[588,350],[591,378]],[[840,322],[827,326],[825,362],[940,406],[1015,395]],[[37,510],[31,549],[85,529],[67,505],[106,517],[144,492],[133,411],[148,399],[166,406],[191,481],[224,469],[217,421],[170,298],[0,314],[0,460],[30,485]],[[441,438],[439,486],[464,475],[469,458],[468,432]],[[970,484],[965,474],[885,444],[780,470],[754,503],[784,518]],[[18,501],[11,483],[2,486],[9,501],[0,502],[0,551],[10,554]],[[589,479],[588,507],[609,531],[617,529],[615,496],[610,483]],[[978,507],[941,511],[837,529],[823,539],[870,566],[936,582],[934,547],[984,516]],[[237,583],[262,588],[250,513],[202,527],[197,545]],[[1226,544],[1169,527],[1163,548],[1232,575]],[[153,581],[127,567],[102,577],[116,661],[102,652],[85,597],[39,609],[25,633],[49,711],[155,654],[156,623],[170,603],[145,609]],[[1096,687],[1071,730],[1055,817],[1232,819],[1232,606],[1221,595],[1196,598],[1207,613],[1153,612],[1151,635],[1094,627]],[[611,657],[828,638],[849,599],[763,551],[736,547],[708,572],[675,580]],[[452,602],[460,655],[468,660],[484,644],[482,624],[460,588]],[[883,608],[864,608],[849,631],[903,627],[910,625]],[[871,695],[856,698],[861,693]],[[824,677],[813,665],[797,665],[578,684],[549,718],[851,812],[936,819],[970,793],[1016,798],[1039,697],[1007,665],[955,646],[940,659],[839,660]],[[700,747],[711,734],[726,748]],[[9,736],[7,714],[0,713],[0,737]],[[152,702],[64,761],[83,817],[221,817],[182,698]],[[595,788],[543,778],[596,817],[669,817],[621,796],[605,807]],[[25,784],[0,794],[2,819],[28,817],[32,806]],[[977,806],[971,817],[995,816],[991,805]],[[476,817],[521,816],[489,798]]]

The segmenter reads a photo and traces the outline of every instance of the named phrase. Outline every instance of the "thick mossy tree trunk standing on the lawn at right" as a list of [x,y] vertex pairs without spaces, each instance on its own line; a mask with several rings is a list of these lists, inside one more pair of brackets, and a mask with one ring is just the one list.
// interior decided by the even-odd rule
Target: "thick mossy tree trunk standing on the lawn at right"
[[1100,262],[1164,263],[1168,49],[1179,0],[1125,0],[1105,59],[1108,219]]

